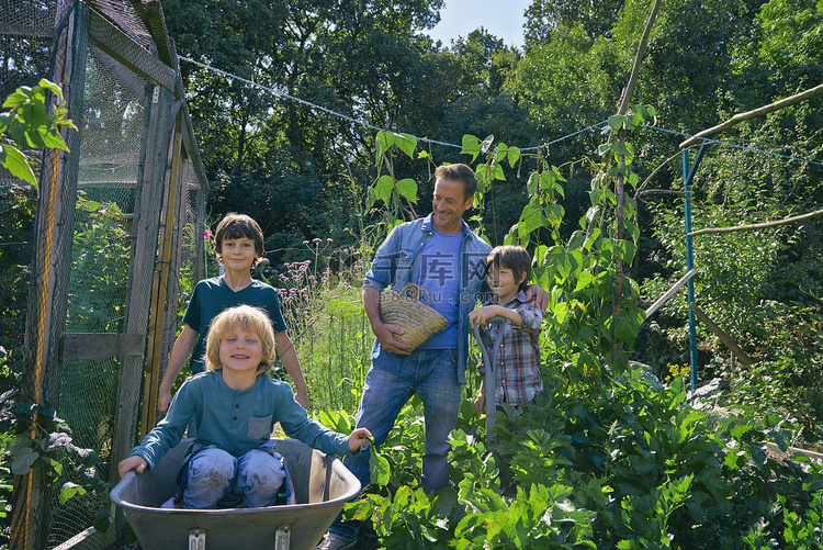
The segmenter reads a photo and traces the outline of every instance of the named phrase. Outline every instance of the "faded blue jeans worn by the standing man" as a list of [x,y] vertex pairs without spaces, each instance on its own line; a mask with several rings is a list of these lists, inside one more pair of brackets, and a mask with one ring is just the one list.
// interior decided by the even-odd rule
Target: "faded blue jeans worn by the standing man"
[[[358,407],[357,427],[368,428],[380,449],[403,405],[417,392],[422,401],[426,420],[426,451],[420,484],[427,494],[449,484],[449,436],[458,424],[462,390],[458,382],[456,356],[454,349],[418,349],[406,357],[397,372],[372,366],[365,374]],[[370,454],[361,452],[343,460],[343,465],[360,480],[363,487],[369,484]],[[329,531],[346,539],[357,538],[361,521],[342,521],[341,517],[342,513]]]

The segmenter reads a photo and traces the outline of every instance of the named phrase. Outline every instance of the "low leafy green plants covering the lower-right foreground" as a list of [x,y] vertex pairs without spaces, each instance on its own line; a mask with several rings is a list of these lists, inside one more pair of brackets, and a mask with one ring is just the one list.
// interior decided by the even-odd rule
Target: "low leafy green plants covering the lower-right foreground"
[[[576,392],[557,384],[509,413],[492,445],[482,424],[453,433],[451,486],[372,487],[348,514],[371,519],[387,548],[804,548],[820,536],[799,526],[820,525],[821,467],[764,451],[794,437],[782,418],[740,409],[717,422],[686,404],[679,379],[666,389],[641,370]],[[417,414],[398,423],[414,429]],[[419,459],[421,442],[409,445]],[[406,460],[384,449],[393,469]]]

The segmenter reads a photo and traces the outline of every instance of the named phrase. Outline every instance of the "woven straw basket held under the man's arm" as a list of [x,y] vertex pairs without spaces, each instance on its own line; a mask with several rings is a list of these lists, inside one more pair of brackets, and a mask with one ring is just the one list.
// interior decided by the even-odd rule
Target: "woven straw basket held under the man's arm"
[[412,351],[448,324],[446,317],[420,302],[421,292],[426,293],[426,301],[430,304],[429,291],[415,283],[406,284],[399,292],[386,288],[380,293],[380,316],[383,323],[403,328],[405,332],[395,335],[395,339],[412,346]]

